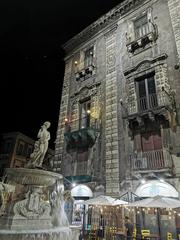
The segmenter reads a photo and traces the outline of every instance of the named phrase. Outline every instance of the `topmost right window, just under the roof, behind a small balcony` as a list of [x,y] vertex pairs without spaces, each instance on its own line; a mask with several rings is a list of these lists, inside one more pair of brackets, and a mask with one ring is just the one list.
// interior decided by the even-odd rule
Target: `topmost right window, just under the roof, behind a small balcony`
[[135,37],[140,38],[149,33],[147,15],[143,15],[134,21]]

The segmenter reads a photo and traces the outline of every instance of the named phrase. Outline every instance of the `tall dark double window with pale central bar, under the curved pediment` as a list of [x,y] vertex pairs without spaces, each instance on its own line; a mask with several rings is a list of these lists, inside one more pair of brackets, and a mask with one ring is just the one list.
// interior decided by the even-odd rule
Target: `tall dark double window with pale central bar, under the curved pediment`
[[143,112],[158,106],[154,75],[136,79],[139,111]]

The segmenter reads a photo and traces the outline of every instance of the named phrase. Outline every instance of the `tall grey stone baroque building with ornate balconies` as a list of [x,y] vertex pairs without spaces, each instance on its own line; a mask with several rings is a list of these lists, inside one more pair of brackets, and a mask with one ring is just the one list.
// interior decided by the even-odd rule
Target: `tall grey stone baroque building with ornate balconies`
[[63,47],[54,170],[94,194],[178,195],[180,1],[121,1]]

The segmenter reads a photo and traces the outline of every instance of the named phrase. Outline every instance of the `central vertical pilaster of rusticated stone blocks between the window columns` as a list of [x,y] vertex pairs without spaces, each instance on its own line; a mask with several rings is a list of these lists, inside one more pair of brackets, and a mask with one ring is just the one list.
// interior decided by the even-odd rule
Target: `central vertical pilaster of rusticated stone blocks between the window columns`
[[106,38],[106,194],[119,195],[119,151],[117,115],[116,28]]

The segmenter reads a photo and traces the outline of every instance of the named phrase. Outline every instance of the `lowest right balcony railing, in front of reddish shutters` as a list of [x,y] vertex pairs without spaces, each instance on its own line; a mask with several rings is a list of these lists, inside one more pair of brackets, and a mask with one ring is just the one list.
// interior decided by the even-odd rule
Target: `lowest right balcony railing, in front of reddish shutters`
[[161,171],[172,169],[172,158],[165,149],[137,152],[129,157],[129,166],[133,171]]

